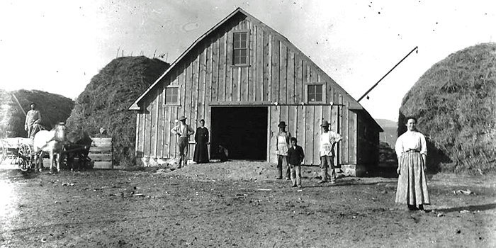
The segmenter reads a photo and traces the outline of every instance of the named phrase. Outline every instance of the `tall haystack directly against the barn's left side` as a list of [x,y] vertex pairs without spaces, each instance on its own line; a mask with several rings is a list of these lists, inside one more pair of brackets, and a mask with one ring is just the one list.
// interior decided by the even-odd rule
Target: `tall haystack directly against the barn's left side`
[[[144,56],[111,61],[78,96],[67,125],[91,136],[112,137],[113,164],[133,165],[136,113],[128,108],[167,68],[168,63]],[[107,133],[101,135],[100,128]]]

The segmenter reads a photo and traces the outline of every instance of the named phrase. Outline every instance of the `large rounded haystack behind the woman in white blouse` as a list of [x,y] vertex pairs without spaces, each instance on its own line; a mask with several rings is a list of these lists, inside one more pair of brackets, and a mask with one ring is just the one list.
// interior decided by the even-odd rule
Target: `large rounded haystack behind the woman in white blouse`
[[429,140],[429,165],[441,171],[496,171],[496,43],[455,52],[434,64],[403,98]]

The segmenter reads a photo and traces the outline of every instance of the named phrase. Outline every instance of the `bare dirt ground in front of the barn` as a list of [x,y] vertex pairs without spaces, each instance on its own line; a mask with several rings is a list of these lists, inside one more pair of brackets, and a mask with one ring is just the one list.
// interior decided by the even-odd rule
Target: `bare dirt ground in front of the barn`
[[[0,169],[0,247],[496,247],[496,176],[429,175],[430,213],[394,203],[394,169],[303,188],[274,164]],[[381,170],[383,171],[383,170]]]

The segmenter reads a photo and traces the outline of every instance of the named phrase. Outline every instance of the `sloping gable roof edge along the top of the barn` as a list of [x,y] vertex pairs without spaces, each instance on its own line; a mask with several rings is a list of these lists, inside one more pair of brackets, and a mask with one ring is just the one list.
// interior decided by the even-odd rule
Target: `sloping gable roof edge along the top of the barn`
[[[138,97],[136,99],[136,101],[133,102],[133,104],[131,104],[131,106],[129,107],[129,110],[131,111],[136,111],[136,110],[140,110],[140,106],[138,103],[140,103],[140,101],[142,101],[143,98],[145,98],[145,96],[147,96],[147,94],[150,93],[150,91],[152,91],[152,89],[155,88],[155,86],[157,86],[159,84],[159,82],[169,73],[171,72],[173,69],[175,69],[175,67],[178,66],[178,64],[181,64],[182,60],[184,59],[184,57],[186,57],[195,47],[197,47],[198,45],[200,45],[202,43],[202,41],[208,37],[208,35],[210,35],[211,33],[215,32],[215,30],[218,30],[218,28],[220,28],[220,26],[222,26],[224,23],[226,23],[227,21],[230,21],[230,19],[232,18],[235,18],[235,16],[237,16],[238,14],[242,14],[244,16],[246,16],[247,18],[250,18],[252,21],[255,21],[257,23],[259,23],[261,26],[264,26],[264,28],[270,30],[271,32],[275,33],[276,35],[278,35],[281,39],[285,40],[286,43],[288,44],[288,46],[291,46],[292,49],[295,51],[295,52],[298,52],[301,56],[305,57],[305,60],[307,60],[309,63],[313,64],[315,66],[315,68],[317,68],[318,70],[320,70],[322,72],[322,74],[324,75],[327,75],[325,72],[322,71],[322,69],[320,69],[320,67],[318,67],[314,62],[312,62],[312,60],[310,60],[310,58],[308,58],[303,52],[301,52],[297,47],[295,47],[293,45],[293,43],[291,43],[286,37],[284,37],[283,35],[281,35],[280,33],[278,33],[276,30],[270,28],[269,26],[267,26],[266,24],[262,23],[261,21],[259,21],[257,18],[254,18],[253,16],[251,16],[249,13],[247,13],[246,11],[244,11],[243,9],[241,8],[237,8],[235,11],[233,11],[232,13],[230,13],[228,16],[226,16],[224,19],[222,19],[222,21],[220,21],[219,23],[217,23],[215,26],[213,26],[213,28],[210,28],[210,30],[208,30],[206,33],[204,33],[203,35],[201,35],[197,40],[195,40],[195,42],[193,42],[193,44],[191,44],[187,50],[185,50],[172,64],[171,66],[169,67],[169,69],[167,69],[156,81],[154,81],[154,83],[152,85],[150,85],[150,87],[148,87],[148,89],[140,95],[140,97]],[[327,75],[328,76],[328,75]],[[330,77],[329,77],[330,79]],[[334,82],[334,80],[330,79],[332,82]],[[339,86],[339,84],[335,83],[335,86],[338,87],[342,92],[343,94],[346,94],[349,96],[349,94],[344,91],[344,89],[342,89],[341,86]],[[358,101],[354,100],[354,98],[352,98],[351,96],[349,96],[349,98],[353,99],[353,101],[350,103],[350,106],[349,108],[350,109],[356,109],[356,110],[361,110],[363,109],[363,107],[359,104]]]

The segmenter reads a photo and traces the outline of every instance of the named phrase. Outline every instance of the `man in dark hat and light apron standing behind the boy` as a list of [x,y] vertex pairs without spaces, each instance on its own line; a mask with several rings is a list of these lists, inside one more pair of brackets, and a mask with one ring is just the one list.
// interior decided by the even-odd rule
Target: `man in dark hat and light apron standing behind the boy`
[[277,154],[277,175],[276,179],[283,179],[283,167],[286,167],[286,180],[291,179],[291,169],[288,164],[289,142],[291,133],[286,132],[286,122],[281,121],[279,125],[279,133],[276,136],[276,154]]

